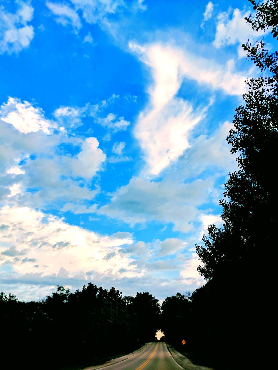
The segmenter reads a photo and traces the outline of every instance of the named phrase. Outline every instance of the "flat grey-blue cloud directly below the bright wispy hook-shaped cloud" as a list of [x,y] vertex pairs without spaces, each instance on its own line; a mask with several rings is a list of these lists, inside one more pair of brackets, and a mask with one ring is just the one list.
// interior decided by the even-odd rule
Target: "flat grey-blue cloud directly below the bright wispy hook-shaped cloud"
[[212,178],[183,184],[133,177],[128,185],[113,193],[111,203],[97,213],[121,219],[131,226],[154,220],[172,222],[175,231],[188,232],[199,215],[198,205],[209,200],[208,189],[213,185]]

